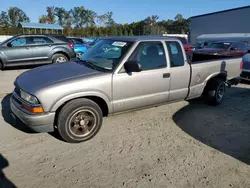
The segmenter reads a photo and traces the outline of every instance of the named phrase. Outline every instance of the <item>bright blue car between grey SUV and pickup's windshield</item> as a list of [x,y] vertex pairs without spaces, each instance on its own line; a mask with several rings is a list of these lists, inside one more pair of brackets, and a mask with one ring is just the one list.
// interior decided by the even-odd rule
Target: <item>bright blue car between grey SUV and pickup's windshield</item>
[[74,51],[77,58],[81,57],[90,48],[81,38],[70,37],[68,39],[74,44]]

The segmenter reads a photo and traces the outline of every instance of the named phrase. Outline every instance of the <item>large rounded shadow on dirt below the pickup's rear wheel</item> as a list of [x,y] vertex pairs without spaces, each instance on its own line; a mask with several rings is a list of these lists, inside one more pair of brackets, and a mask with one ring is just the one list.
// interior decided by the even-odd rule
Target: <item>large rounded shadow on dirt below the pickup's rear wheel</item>
[[250,89],[232,87],[217,107],[192,100],[173,120],[195,139],[250,165]]

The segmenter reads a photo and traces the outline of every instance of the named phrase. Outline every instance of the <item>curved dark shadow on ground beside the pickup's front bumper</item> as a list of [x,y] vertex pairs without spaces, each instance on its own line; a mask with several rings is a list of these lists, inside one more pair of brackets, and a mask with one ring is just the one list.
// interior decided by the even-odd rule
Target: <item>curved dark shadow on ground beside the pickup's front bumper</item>
[[11,97],[11,94],[6,95],[2,99],[2,102],[1,102],[2,116],[3,116],[4,121],[22,132],[36,133],[35,131],[32,131],[27,126],[25,126],[18,118],[15,118],[13,116],[11,109],[10,109],[10,97]]

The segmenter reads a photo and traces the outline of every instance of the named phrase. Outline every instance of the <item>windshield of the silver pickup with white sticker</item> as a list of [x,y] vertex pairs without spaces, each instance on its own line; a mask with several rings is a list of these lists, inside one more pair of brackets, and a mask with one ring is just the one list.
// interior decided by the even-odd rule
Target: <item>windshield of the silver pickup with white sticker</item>
[[91,67],[113,71],[132,44],[132,42],[125,41],[100,40],[83,54],[80,60],[91,65]]

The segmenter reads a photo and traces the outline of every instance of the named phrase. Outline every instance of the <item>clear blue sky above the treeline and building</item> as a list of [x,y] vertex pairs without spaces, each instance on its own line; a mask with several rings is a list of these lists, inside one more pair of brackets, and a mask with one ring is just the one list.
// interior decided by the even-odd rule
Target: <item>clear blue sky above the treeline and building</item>
[[38,22],[46,14],[47,6],[64,7],[70,10],[84,6],[97,14],[112,11],[117,23],[140,21],[147,16],[158,15],[159,20],[174,19],[180,13],[184,18],[211,13],[231,8],[250,5],[249,0],[0,0],[0,11],[9,7],[21,8],[30,17],[31,22]]

